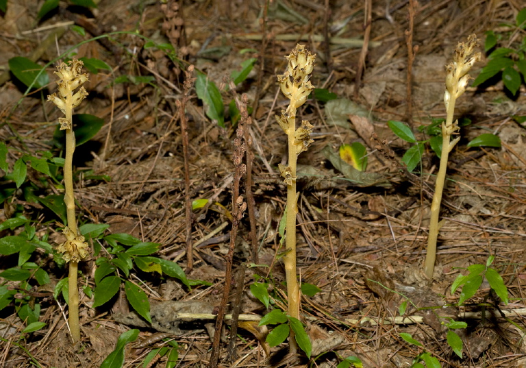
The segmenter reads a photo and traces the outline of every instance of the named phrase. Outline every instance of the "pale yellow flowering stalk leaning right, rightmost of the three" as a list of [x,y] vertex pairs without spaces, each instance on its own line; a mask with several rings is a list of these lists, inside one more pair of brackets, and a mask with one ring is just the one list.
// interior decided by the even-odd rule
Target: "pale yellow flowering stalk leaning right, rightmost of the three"
[[429,237],[427,238],[427,254],[425,256],[424,271],[427,278],[433,278],[433,271],[436,260],[436,241],[438,231],[442,227],[443,221],[438,223],[440,212],[440,202],[442,201],[442,191],[446,180],[447,160],[449,152],[460,140],[457,137],[450,141],[452,134],[458,134],[458,121],[453,123],[455,112],[455,102],[465,91],[471,76],[468,71],[475,62],[480,60],[480,53],[474,53],[478,46],[477,36],[472,34],[468,37],[468,42],[461,42],[455,49],[453,62],[446,66],[446,92],[444,93],[444,104],[447,110],[446,121],[442,123],[442,156],[440,156],[440,168],[436,175],[435,194],[431,202],[431,219],[429,222]]

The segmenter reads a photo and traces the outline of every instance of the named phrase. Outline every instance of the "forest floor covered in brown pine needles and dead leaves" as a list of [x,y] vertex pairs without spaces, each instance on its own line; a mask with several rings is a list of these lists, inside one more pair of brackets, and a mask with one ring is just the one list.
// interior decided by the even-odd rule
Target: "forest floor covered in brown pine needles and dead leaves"
[[[416,169],[416,175],[407,175],[397,162],[410,145],[392,134],[386,123],[411,121],[418,139],[426,139],[416,128],[429,125],[431,118],[445,116],[444,65],[451,62],[453,49],[469,34],[477,34],[484,41],[484,32],[490,29],[508,32],[501,25],[514,23],[521,10],[520,1],[421,1],[414,3],[414,17],[410,16],[408,1],[373,1],[369,22],[365,16],[367,2],[362,1],[279,0],[268,7],[264,1],[255,0],[168,1],[179,5],[174,12],[162,10],[159,1],[101,1],[92,11],[61,1],[60,10],[38,21],[42,3],[8,1],[8,11],[0,21],[1,72],[8,73],[10,58],[30,56],[42,45],[44,49],[36,58],[40,65],[79,45],[75,49],[77,57],[97,58],[112,67],[112,73],[101,71],[90,76],[86,85],[89,97],[75,110],[105,121],[90,143],[75,152],[79,223],[107,223],[110,233],[128,233],[142,241],[160,243],[160,258],[178,262],[188,278],[210,283],[189,291],[177,280],[160,280],[132,271],[130,278],[145,282],[143,289],[152,304],[199,300],[217,307],[225,282],[231,282],[227,313],[239,296],[243,315],[263,315],[264,306],[249,291],[256,273],[268,275],[275,283],[276,297],[284,297],[279,288],[284,268],[278,254],[284,249],[279,246],[278,228],[286,186],[277,164],[286,163],[287,147],[286,136],[274,116],[286,108],[288,101],[278,93],[276,74],[284,72],[284,56],[297,43],[317,54],[311,79],[316,88],[326,88],[340,99],[353,101],[360,110],[371,112],[371,119],[365,122],[349,111],[343,113],[343,119],[337,119],[327,111],[327,103],[318,99],[310,99],[299,110],[299,117],[314,125],[314,143],[299,156],[303,175],[298,178],[298,267],[301,282],[321,289],[314,297],[303,296],[301,315],[316,347],[313,357],[326,354],[310,361],[305,357],[290,359],[283,358],[279,347],[275,347],[269,359],[262,341],[250,328],[238,329],[234,350],[227,349],[227,323],[220,366],[336,367],[341,358],[357,356],[363,367],[410,367],[424,350],[405,342],[401,332],[421,341],[442,367],[526,365],[526,326],[519,313],[525,308],[522,287],[526,282],[525,130],[511,119],[512,115],[525,114],[524,85],[516,99],[505,94],[500,82],[484,89],[471,88],[458,101],[455,116],[469,117],[473,123],[462,129],[462,139],[451,153],[441,211],[445,222],[432,282],[423,275],[422,264],[438,158],[427,146],[421,173]],[[410,20],[414,21],[412,45],[416,51],[412,63],[407,48]],[[362,64],[364,23],[370,25],[370,36]],[[73,32],[72,25],[84,27],[86,34]],[[172,62],[158,49],[145,49],[145,40],[132,34],[112,34],[81,45],[90,38],[118,31],[171,43],[181,64]],[[167,36],[167,31],[173,33]],[[181,65],[195,65],[224,91],[231,72],[239,71],[241,62],[249,58],[257,58],[258,62],[236,89],[239,94],[247,94],[249,107],[253,108],[249,149],[254,156],[251,190],[255,245],[258,264],[270,267],[249,267],[244,278],[238,275],[242,262],[254,260],[249,218],[245,216],[234,253],[235,277],[225,280],[235,127],[229,118],[225,127],[211,121],[202,101],[191,90],[186,103],[190,155],[187,194],[192,201],[208,199],[208,205],[192,211],[191,241],[195,244],[218,231],[195,247],[190,270],[186,257],[184,157],[176,101],[181,100],[184,90]],[[471,75],[478,75],[485,63],[483,58]],[[360,70],[363,75],[357,86]],[[153,78],[149,83],[114,83],[122,75]],[[23,98],[25,88],[9,73],[1,83],[0,136],[9,147],[18,149],[10,150],[10,165],[25,152],[38,156],[39,151],[52,150],[59,156],[60,151],[50,145],[59,116],[57,109],[40,99],[39,93]],[[52,82],[49,90],[55,88]],[[228,91],[222,96],[225,106],[233,99]],[[15,107],[18,101],[21,103]],[[386,140],[394,157],[378,150],[378,144],[371,140],[372,132]],[[484,132],[499,135],[502,147],[466,147],[469,140]],[[353,142],[366,146],[367,173],[379,174],[381,180],[359,185],[343,180],[324,155],[327,150],[337,154],[340,145]],[[88,170],[92,170],[90,175],[107,175],[110,180],[90,177]],[[42,174],[28,170],[28,175],[42,188],[42,196],[56,192],[53,185],[42,185],[42,180],[46,181]],[[0,185],[8,187],[12,182],[4,180]],[[244,194],[244,182],[241,188]],[[21,193],[15,193],[6,203],[24,206],[26,217],[42,223],[53,217],[45,208],[24,201]],[[0,212],[1,221],[9,218],[8,204],[5,208]],[[60,223],[51,223],[40,226],[38,232],[54,239],[60,228]],[[9,230],[2,234],[8,235]],[[488,284],[482,284],[465,306],[455,306],[458,293],[451,295],[450,289],[462,271],[457,267],[485,265],[490,255],[496,256],[494,267],[508,286],[509,304],[499,304],[490,295]],[[50,260],[35,257],[35,261],[51,265]],[[3,258],[1,269],[14,266],[9,264],[13,258]],[[95,258],[84,262],[79,281],[83,286],[95,287],[95,269]],[[49,273],[53,284],[67,275],[66,269],[58,267]],[[392,317],[399,315],[404,300],[401,294],[411,301],[405,316],[412,320],[391,323]],[[60,310],[64,308],[63,299],[58,304],[52,297],[40,297],[40,321],[47,327],[21,340],[18,337],[25,327],[23,322],[12,306],[2,310],[2,323],[10,323],[14,329],[2,330],[0,365],[99,367],[114,349],[117,337],[132,328],[114,317],[130,307],[124,291],[109,306],[94,309],[92,303],[82,294],[83,340],[77,349],[70,347]],[[508,312],[508,319],[502,317],[497,305]],[[477,318],[483,308],[491,311],[489,318]],[[469,312],[471,317],[466,318]],[[457,331],[464,342],[462,359],[446,341],[447,328],[441,322],[447,320],[437,316],[468,323],[468,328]],[[139,341],[156,332],[140,328]],[[177,367],[209,365],[211,341],[206,332],[186,332],[175,339],[179,344]],[[163,342],[127,345],[123,366],[142,367],[155,344]],[[281,345],[281,352],[284,350],[285,344]],[[166,356],[153,360],[148,367],[165,365]]]

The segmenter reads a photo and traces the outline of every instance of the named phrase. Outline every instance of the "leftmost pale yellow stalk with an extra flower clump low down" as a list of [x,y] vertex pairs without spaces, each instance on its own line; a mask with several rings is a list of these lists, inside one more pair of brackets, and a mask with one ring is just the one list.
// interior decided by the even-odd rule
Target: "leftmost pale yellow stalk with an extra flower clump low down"
[[[60,130],[66,131],[66,156],[64,158],[64,204],[66,204],[68,225],[64,228],[66,241],[58,246],[62,258],[69,262],[68,275],[68,322],[73,344],[80,341],[79,327],[79,289],[77,273],[79,260],[86,258],[89,252],[84,236],[77,233],[75,217],[75,194],[73,193],[73,151],[75,151],[75,135],[73,134],[73,108],[80,105],[88,93],[82,84],[88,81],[88,75],[82,74],[82,61],[73,59],[68,64],[58,66],[55,74],[59,77],[58,95],[53,93],[47,99],[64,113],[64,118],[58,118]],[[79,90],[75,93],[75,89]]]

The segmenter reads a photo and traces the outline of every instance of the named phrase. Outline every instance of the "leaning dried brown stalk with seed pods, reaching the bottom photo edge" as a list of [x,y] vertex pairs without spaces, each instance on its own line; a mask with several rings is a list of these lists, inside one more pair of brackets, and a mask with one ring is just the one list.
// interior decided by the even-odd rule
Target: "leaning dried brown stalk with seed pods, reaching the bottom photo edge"
[[[231,84],[231,89],[234,86]],[[232,230],[230,232],[230,244],[228,253],[226,256],[227,269],[225,271],[225,289],[223,290],[223,298],[221,298],[221,304],[219,304],[216,319],[216,333],[214,335],[214,342],[212,343],[212,353],[210,354],[210,364],[208,367],[216,368],[219,359],[219,343],[221,342],[221,329],[223,328],[223,317],[225,316],[225,310],[227,308],[228,297],[230,294],[230,286],[233,280],[232,278],[232,259],[234,258],[234,247],[236,246],[236,238],[238,236],[239,222],[241,221],[245,210],[247,209],[247,202],[243,200],[243,197],[239,195],[239,183],[241,178],[247,172],[247,167],[242,163],[243,156],[245,156],[246,143],[244,142],[245,137],[245,124],[240,119],[238,129],[236,131],[236,138],[234,139],[234,188],[232,189]]]

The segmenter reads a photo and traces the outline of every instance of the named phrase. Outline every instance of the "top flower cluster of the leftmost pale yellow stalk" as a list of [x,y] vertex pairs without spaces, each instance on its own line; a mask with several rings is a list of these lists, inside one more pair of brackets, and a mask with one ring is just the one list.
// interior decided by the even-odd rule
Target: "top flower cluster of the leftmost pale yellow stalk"
[[[58,95],[53,93],[47,97],[48,101],[55,103],[55,105],[62,111],[65,118],[59,118],[60,130],[71,129],[71,114],[73,108],[80,105],[82,100],[88,96],[86,88],[82,87],[82,84],[88,82],[88,75],[82,74],[82,66],[84,63],[80,60],[73,59],[68,64],[62,62],[58,66],[58,71],[55,74],[58,75],[60,80],[58,84]],[[75,92],[79,86],[80,89]]]

